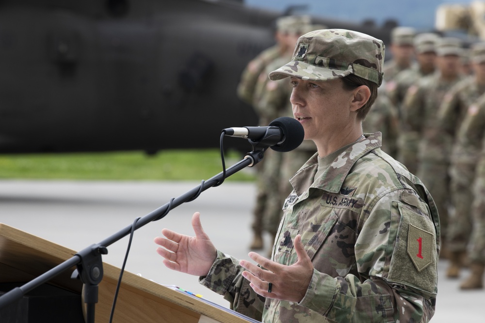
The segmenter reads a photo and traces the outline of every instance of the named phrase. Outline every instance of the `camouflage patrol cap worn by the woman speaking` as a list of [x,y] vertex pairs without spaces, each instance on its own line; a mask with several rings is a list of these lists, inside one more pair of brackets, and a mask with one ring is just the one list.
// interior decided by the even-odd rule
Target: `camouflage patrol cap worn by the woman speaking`
[[310,31],[298,39],[292,61],[271,72],[269,77],[329,81],[354,74],[380,86],[384,49],[381,40],[357,31]]

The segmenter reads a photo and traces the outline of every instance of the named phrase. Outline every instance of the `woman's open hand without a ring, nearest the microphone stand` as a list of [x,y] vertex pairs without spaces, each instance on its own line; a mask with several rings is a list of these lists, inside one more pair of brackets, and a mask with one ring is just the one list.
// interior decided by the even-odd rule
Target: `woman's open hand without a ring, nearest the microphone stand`
[[190,275],[206,276],[217,258],[217,249],[202,229],[198,212],[192,216],[192,228],[195,237],[163,229],[162,234],[166,238],[156,237],[154,240],[163,247],[157,248],[157,253],[165,258],[163,264],[167,268]]

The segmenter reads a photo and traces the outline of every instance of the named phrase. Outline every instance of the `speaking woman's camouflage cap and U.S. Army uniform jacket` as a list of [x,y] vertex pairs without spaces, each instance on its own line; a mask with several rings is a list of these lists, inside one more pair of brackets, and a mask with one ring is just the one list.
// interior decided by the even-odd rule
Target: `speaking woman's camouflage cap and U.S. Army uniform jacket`
[[[345,46],[361,51],[341,51]],[[322,52],[326,57],[314,55]],[[353,74],[380,85],[383,54],[383,43],[368,35],[314,31],[300,37],[293,61],[270,77]],[[338,60],[343,56],[349,63]],[[417,177],[380,150],[380,133],[366,137],[325,157],[315,154],[291,178],[272,259],[295,263],[293,241],[301,234],[314,271],[299,303],[259,296],[239,261],[220,251],[200,283],[266,323],[428,322],[437,286],[436,205]]]

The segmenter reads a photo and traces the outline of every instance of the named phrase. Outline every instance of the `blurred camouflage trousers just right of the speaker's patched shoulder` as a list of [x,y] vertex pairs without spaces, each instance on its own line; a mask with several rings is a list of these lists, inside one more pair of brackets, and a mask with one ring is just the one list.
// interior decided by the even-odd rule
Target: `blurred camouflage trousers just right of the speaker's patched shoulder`
[[448,165],[441,161],[422,160],[417,174],[435,200],[442,238],[446,237],[448,230],[448,207],[450,205]]

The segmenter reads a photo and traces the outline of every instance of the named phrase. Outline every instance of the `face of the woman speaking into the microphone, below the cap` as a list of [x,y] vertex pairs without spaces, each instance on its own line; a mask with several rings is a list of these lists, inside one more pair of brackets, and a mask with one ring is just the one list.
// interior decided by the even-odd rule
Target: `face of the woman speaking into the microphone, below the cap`
[[346,132],[353,116],[350,104],[352,91],[343,89],[341,79],[306,81],[291,78],[293,115],[305,129],[305,139],[315,142],[330,140]]

